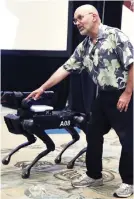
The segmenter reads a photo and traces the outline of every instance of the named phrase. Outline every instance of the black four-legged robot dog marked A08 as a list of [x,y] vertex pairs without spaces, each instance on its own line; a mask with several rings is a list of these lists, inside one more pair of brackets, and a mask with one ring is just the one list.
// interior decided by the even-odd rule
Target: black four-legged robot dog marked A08
[[[45,132],[47,129],[64,128],[72,136],[70,141],[61,153],[56,157],[55,163],[60,163],[64,151],[79,140],[79,134],[75,127],[79,127],[86,131],[89,116],[84,113],[71,111],[68,107],[63,110],[56,110],[55,96],[52,91],[46,91],[38,100],[25,97],[27,92],[5,92],[2,94],[1,102],[6,106],[7,99],[15,102],[14,108],[17,109],[16,114],[8,114],[4,116],[8,131],[14,134],[22,134],[27,138],[27,142],[19,145],[12,150],[2,163],[7,165],[11,156],[19,149],[24,148],[36,142],[36,137],[40,138],[46,145],[46,150],[41,152],[32,162],[22,171],[22,178],[28,178],[33,165],[42,157],[55,150],[55,144],[49,135]],[[36,136],[36,137],[35,137]],[[67,168],[73,168],[76,159],[86,151],[86,147],[82,149],[67,165]]]

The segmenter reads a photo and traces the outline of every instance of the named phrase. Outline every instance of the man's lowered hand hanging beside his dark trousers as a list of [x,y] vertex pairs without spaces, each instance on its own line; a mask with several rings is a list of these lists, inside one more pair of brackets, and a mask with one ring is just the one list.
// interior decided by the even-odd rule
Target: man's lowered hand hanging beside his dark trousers
[[132,93],[128,93],[126,91],[122,93],[117,103],[117,109],[120,112],[122,112],[123,110],[125,112],[127,111],[131,96],[132,96]]

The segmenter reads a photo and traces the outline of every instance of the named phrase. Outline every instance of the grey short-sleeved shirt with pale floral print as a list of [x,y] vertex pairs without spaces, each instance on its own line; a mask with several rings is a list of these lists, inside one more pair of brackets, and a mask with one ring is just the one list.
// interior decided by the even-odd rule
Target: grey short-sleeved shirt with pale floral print
[[86,37],[63,67],[69,72],[86,69],[101,90],[126,87],[129,65],[134,63],[133,46],[117,28],[101,24],[96,44]]

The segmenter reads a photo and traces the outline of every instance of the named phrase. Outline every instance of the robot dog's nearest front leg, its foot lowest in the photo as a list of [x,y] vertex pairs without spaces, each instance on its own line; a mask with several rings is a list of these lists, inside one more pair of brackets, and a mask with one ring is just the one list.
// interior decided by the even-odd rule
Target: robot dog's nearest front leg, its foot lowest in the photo
[[34,134],[39,137],[47,146],[47,149],[41,152],[32,162],[22,171],[22,178],[29,178],[31,168],[35,165],[35,163],[41,159],[42,157],[46,156],[51,151],[55,150],[55,144],[51,140],[51,138],[46,134],[44,130],[37,129]]

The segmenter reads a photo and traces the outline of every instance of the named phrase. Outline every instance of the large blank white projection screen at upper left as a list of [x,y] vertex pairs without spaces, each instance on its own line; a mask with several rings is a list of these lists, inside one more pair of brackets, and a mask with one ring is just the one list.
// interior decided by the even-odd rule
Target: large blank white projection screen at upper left
[[68,0],[1,0],[1,49],[68,52],[70,4]]

